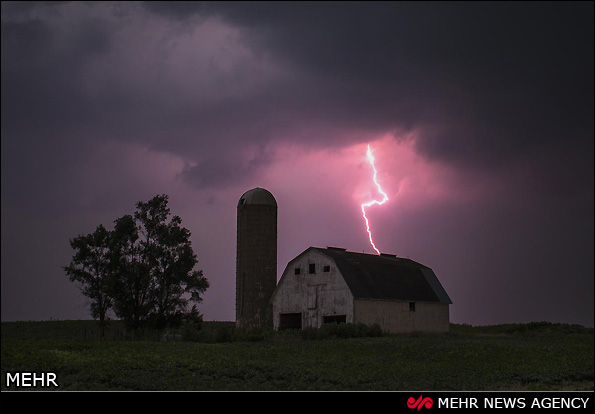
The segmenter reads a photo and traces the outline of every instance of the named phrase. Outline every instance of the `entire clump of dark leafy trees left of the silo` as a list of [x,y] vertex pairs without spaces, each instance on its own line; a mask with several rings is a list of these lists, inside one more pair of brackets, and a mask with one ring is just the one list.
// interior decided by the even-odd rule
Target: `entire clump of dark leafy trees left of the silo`
[[100,225],[95,233],[71,240],[77,252],[64,269],[91,298],[102,335],[110,308],[135,332],[198,317],[196,304],[209,282],[202,270],[194,269],[198,260],[190,231],[180,217],[170,219],[167,204],[167,195],[138,202],[134,215],[114,221],[113,231]]

